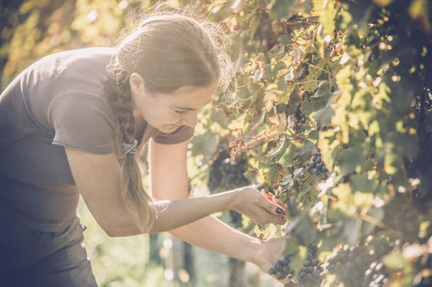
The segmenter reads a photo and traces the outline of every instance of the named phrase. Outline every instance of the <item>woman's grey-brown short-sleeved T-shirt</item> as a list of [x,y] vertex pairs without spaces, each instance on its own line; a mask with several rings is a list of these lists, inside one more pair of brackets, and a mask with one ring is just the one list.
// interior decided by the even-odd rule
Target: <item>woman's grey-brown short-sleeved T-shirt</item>
[[[57,231],[76,214],[76,189],[64,147],[124,155],[119,127],[103,84],[114,48],[86,48],[44,57],[0,95],[0,217],[42,231]],[[157,108],[157,107],[155,107]],[[180,127],[164,134],[146,125],[150,139],[174,144],[193,136]]]

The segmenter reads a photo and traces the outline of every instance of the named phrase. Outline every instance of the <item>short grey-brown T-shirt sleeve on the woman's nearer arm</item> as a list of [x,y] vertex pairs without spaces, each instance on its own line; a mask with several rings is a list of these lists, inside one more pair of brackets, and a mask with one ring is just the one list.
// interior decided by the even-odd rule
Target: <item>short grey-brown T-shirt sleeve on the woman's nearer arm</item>
[[114,151],[115,126],[100,95],[60,95],[51,103],[48,118],[55,131],[52,144],[89,153]]

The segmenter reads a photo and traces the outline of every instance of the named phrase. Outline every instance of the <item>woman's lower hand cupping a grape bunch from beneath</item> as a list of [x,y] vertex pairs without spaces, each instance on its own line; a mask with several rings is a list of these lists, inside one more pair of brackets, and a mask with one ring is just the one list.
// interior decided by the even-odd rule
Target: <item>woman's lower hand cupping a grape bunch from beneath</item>
[[[260,247],[257,250],[254,250],[252,263],[256,264],[266,272],[266,274],[268,274],[268,269],[273,267],[278,260],[282,260],[285,256],[285,245],[287,240],[288,236],[280,236],[261,242]],[[275,277],[273,276],[273,278]],[[290,279],[286,277],[285,279],[281,279],[280,282],[288,283],[290,282]]]

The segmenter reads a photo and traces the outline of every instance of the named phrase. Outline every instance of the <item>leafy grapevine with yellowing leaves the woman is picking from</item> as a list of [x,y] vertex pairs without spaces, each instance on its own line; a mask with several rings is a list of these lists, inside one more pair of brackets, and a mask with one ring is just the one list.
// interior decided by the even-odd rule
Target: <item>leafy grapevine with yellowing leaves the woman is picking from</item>
[[[249,158],[249,175],[288,203],[284,235],[332,252],[319,280],[414,282],[387,258],[417,274],[426,268],[422,255],[405,259],[394,246],[424,246],[432,234],[432,8],[420,0],[271,2],[244,2],[246,17],[224,15],[238,31],[243,112],[231,158]],[[290,265],[297,285],[311,282],[311,263]]]

